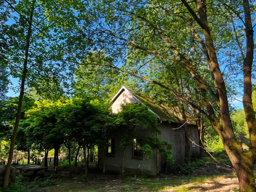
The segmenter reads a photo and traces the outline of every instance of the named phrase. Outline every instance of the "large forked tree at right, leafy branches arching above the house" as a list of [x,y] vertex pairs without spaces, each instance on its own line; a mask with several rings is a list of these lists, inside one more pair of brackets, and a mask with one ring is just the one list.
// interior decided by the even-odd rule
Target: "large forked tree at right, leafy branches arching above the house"
[[[110,6],[105,6],[106,3]],[[173,98],[198,110],[220,135],[241,190],[252,190],[256,161],[256,119],[252,105],[252,7],[248,0],[231,3],[211,0],[103,2],[90,8],[97,10],[90,16],[97,20],[93,20],[91,25],[83,25],[80,33],[81,38],[86,37],[85,41],[87,38],[95,39],[91,50],[104,50],[105,56],[94,59],[105,63],[83,60],[87,52],[81,54],[80,50],[75,55],[79,60],[68,61],[122,71],[160,86]],[[84,24],[88,22],[85,20]],[[237,26],[241,30],[236,30]],[[124,65],[118,66],[121,60]],[[201,102],[198,103],[196,97],[188,99],[187,94],[180,94],[173,84],[156,78],[172,65],[188,72],[186,78],[193,82]],[[235,93],[232,90],[233,79],[238,74],[244,77],[243,105],[250,135],[248,152],[244,152],[241,142],[236,140],[228,104],[228,97]],[[184,91],[188,92],[188,89]]]

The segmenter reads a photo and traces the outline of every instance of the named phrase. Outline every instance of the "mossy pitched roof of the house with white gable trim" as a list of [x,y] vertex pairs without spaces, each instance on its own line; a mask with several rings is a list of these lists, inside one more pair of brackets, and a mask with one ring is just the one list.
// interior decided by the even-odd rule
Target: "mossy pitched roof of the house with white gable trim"
[[[127,89],[124,86],[116,93],[111,101],[114,102],[119,94],[124,90],[131,94],[132,97],[137,100],[137,102],[141,102],[142,104],[148,106],[149,111],[154,113],[159,120],[179,123],[180,117],[178,115],[179,112],[177,107],[168,107],[163,104],[160,105],[154,102],[154,99],[150,96],[145,96],[142,92],[135,92]],[[189,121],[189,124],[194,124],[194,121],[192,121],[191,117],[187,117],[187,120]]]

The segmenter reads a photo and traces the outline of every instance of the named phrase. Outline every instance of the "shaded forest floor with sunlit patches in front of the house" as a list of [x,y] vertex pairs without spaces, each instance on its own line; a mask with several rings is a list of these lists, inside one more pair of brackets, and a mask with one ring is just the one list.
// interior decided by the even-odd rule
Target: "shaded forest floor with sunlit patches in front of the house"
[[58,174],[54,173],[53,168],[49,168],[46,173],[38,172],[37,180],[32,179],[33,172],[28,172],[17,180],[25,187],[24,191],[30,192],[234,192],[238,189],[236,174],[232,169],[220,164],[205,164],[187,176],[164,175],[147,178],[133,175],[124,180],[120,180],[119,175],[103,175],[93,170],[85,180],[83,171],[79,166],[73,167],[72,176],[69,176],[68,167],[63,166],[59,167]]

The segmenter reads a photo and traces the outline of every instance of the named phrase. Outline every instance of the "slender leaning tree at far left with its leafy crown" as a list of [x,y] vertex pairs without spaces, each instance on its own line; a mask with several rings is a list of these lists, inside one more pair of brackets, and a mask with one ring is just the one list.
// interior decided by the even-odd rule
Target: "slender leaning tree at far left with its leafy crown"
[[[6,189],[8,186],[13,149],[20,121],[25,82],[28,87],[34,87],[36,90],[39,90],[40,88],[48,90],[45,88],[49,82],[48,80],[53,80],[55,84],[60,83],[58,78],[62,75],[58,72],[65,67],[62,66],[62,68],[60,68],[56,62],[53,64],[51,62],[51,57],[52,55],[58,55],[59,38],[60,36],[63,38],[63,33],[60,36],[57,35],[57,32],[59,32],[59,34],[61,33],[58,30],[58,27],[63,23],[61,20],[65,18],[61,16],[66,12],[68,14],[73,14],[73,11],[66,9],[68,11],[65,12],[63,9],[58,9],[58,18],[56,19],[54,14],[47,13],[48,11],[51,12],[51,10],[56,11],[58,4],[54,1],[45,4],[45,6],[36,0],[18,1],[17,3],[15,2],[15,4],[12,4],[7,0],[4,2],[6,9],[13,10],[18,15],[9,15],[14,23],[12,24],[12,27],[10,27],[10,30],[5,34],[9,35],[8,38],[12,39],[13,42],[12,46],[6,49],[6,60],[4,60],[4,62],[6,63],[6,68],[10,70],[10,75],[20,79],[20,97],[4,176],[3,188]],[[63,4],[63,7],[65,7],[65,4]],[[70,21],[72,20],[71,18],[72,17],[69,18]],[[66,24],[68,24],[68,22]],[[7,24],[4,23],[4,25],[6,26]],[[52,35],[52,31],[55,32],[54,35]],[[41,84],[37,84],[37,81],[40,81]],[[42,84],[42,82],[45,83]]]

